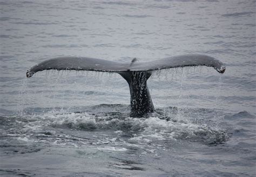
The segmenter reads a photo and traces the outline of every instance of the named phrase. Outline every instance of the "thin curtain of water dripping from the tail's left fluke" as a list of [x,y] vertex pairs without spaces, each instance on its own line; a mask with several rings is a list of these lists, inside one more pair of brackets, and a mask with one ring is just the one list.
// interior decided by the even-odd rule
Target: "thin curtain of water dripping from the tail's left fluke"
[[[45,74],[44,74],[45,72]],[[28,90],[21,99],[27,107],[79,107],[106,104],[111,99],[122,103],[126,96],[129,103],[129,90],[126,81],[116,73],[91,71],[44,71],[29,79]],[[36,83],[34,80],[39,80]],[[125,90],[126,91],[126,90]],[[111,98],[113,96],[113,98]],[[125,99],[124,99],[125,100]],[[31,103],[31,105],[30,105]]]

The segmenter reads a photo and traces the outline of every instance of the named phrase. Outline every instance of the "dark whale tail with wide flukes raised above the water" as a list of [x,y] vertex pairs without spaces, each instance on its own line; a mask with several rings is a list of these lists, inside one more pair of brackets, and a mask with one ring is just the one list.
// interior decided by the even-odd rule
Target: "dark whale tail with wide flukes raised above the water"
[[131,117],[142,117],[154,111],[149,88],[147,88],[147,79],[150,78],[152,71],[185,66],[210,66],[219,73],[224,73],[226,69],[219,60],[206,55],[181,55],[141,63],[137,62],[136,58],[131,63],[121,63],[87,57],[58,57],[31,67],[26,72],[26,77],[31,77],[34,73],[43,70],[116,72],[129,84]]

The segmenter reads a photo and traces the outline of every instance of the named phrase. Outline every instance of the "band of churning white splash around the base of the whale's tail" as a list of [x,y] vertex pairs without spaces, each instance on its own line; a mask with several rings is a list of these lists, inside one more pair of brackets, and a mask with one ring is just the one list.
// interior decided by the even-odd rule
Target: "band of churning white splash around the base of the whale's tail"
[[[180,140],[215,145],[228,139],[227,132],[221,128],[186,119],[166,121],[159,117],[114,118],[106,113],[104,115],[63,113],[63,111],[51,111],[43,115],[27,115],[19,119],[20,131],[26,132],[23,134],[23,138],[25,137],[28,140],[34,139],[33,141],[35,141],[38,138],[37,136],[42,134],[39,137],[43,136],[45,141],[50,141],[49,143],[55,142],[58,145],[71,143],[77,146],[88,143],[88,141],[92,145],[129,144],[130,146],[130,144],[137,144],[144,146]],[[56,132],[59,131],[63,133],[57,135]],[[76,135],[77,138],[72,140],[74,139],[71,135],[73,133],[70,134],[69,131],[75,131],[75,133],[76,131],[86,132],[87,136],[89,132],[93,132],[93,134],[97,134],[97,137],[91,137],[90,135],[84,139]],[[102,135],[103,132],[109,133],[104,136]],[[36,137],[35,134],[37,134]]]

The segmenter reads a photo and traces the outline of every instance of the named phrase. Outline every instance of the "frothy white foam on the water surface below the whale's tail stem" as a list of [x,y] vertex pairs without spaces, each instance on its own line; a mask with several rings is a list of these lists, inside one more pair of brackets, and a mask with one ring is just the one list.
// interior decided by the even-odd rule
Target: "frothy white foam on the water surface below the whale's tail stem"
[[[61,113],[61,114],[59,114]],[[79,130],[94,130],[97,131],[101,129],[113,129],[120,127],[127,127],[128,129],[125,131],[132,132],[132,137],[128,140],[122,140],[122,137],[119,137],[122,130],[113,131],[116,133],[116,137],[109,137],[109,134],[100,134],[106,138],[97,138],[98,142],[92,142],[96,145],[106,145],[106,144],[139,144],[139,145],[149,145],[156,141],[163,140],[178,140],[178,139],[204,139],[207,137],[214,138],[214,136],[218,136],[218,132],[221,131],[218,128],[212,128],[203,125],[198,125],[196,123],[190,122],[189,120],[182,121],[166,121],[164,119],[159,119],[158,117],[150,117],[150,118],[125,118],[125,119],[110,119],[110,117],[95,117],[93,115],[89,115],[87,113],[63,113],[63,111],[57,112],[49,112],[44,115],[33,115],[28,119],[32,119],[33,121],[29,121],[27,125],[24,125],[25,130],[32,131],[42,131],[42,126],[53,126],[64,128],[68,127],[71,129],[78,128]],[[24,124],[24,122],[23,122]],[[127,126],[126,126],[127,125]],[[91,129],[90,129],[91,128]],[[130,130],[129,130],[130,129]],[[93,135],[92,135],[93,136]],[[218,137],[217,137],[218,138]],[[66,139],[70,139],[66,137]],[[63,139],[55,138],[55,140],[59,142],[55,142],[55,144],[60,144],[63,142]],[[76,143],[76,142],[75,142]],[[80,142],[79,142],[80,143]],[[110,147],[107,147],[110,148]],[[111,151],[119,151],[118,149],[112,149]],[[109,149],[109,150],[110,150]],[[123,149],[124,150],[124,149]],[[122,149],[120,151],[123,151]]]

